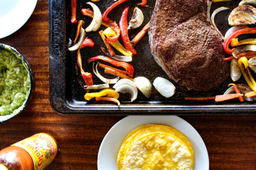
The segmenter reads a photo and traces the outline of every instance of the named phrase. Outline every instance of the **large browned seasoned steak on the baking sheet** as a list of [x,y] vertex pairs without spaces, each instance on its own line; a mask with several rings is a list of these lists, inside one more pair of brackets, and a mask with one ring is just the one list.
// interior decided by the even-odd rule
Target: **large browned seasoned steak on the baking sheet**
[[148,35],[166,74],[189,90],[218,88],[229,76],[221,36],[207,19],[207,0],[157,0]]

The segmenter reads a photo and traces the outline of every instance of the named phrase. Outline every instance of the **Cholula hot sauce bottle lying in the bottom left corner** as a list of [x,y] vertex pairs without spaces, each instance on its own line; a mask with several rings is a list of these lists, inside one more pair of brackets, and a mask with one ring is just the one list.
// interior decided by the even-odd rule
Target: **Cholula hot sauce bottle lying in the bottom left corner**
[[0,150],[0,170],[42,170],[55,158],[56,140],[47,133],[37,133]]

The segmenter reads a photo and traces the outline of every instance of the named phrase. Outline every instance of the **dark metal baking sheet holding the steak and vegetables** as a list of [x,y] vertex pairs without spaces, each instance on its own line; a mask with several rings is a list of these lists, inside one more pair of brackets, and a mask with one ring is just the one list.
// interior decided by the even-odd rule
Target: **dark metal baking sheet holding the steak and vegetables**
[[[91,19],[81,14],[81,8],[90,8],[85,3],[87,0],[78,0],[77,20],[84,20],[86,28]],[[95,4],[100,10],[110,6],[113,0],[101,0]],[[140,0],[130,0],[117,6],[110,14],[113,20],[119,23],[122,10],[130,6],[129,17],[133,13],[134,7],[140,3]],[[143,26],[150,20],[151,13],[154,9],[155,0],[148,0],[147,7],[139,7],[144,14],[144,21],[142,26],[129,31],[130,37],[134,37]],[[227,23],[227,17],[230,11],[238,6],[239,0],[232,0],[221,3],[213,3],[211,13],[220,6],[230,7],[228,11],[222,11],[216,16],[215,23],[220,28],[221,32],[225,33],[230,26]],[[186,12],[186,11],[184,11]],[[161,96],[153,87],[152,95],[147,99],[139,92],[138,98],[134,102],[129,102],[129,96],[126,94],[120,95],[121,106],[107,102],[93,102],[85,101],[85,91],[79,85],[76,79],[76,51],[67,51],[68,38],[74,39],[76,33],[76,24],[70,23],[70,0],[49,0],[49,72],[50,72],[50,103],[52,108],[58,113],[62,114],[254,114],[256,113],[255,102],[242,102],[238,100],[230,100],[227,102],[213,102],[213,101],[185,101],[184,96],[214,96],[223,94],[227,90],[227,85],[232,82],[230,78],[227,79],[223,85],[209,92],[188,91],[186,88],[177,85],[177,92],[169,99]],[[104,29],[102,26],[99,30]],[[99,36],[98,31],[86,34],[86,37],[95,42],[95,46],[85,47],[81,49],[83,68],[85,71],[92,72],[92,65],[87,64],[87,59],[97,55],[104,55],[100,50],[103,41]],[[122,40],[121,40],[122,41]],[[121,42],[120,41],[120,42]],[[135,74],[137,76],[145,76],[154,81],[156,77],[167,78],[164,71],[157,65],[151,55],[148,45],[148,34],[137,44],[136,50],[138,55],[133,57],[131,65],[134,66]],[[221,76],[221,75],[220,75]],[[93,81],[96,84],[102,83],[95,75]],[[173,81],[172,81],[173,82]],[[243,78],[236,83],[245,83]]]

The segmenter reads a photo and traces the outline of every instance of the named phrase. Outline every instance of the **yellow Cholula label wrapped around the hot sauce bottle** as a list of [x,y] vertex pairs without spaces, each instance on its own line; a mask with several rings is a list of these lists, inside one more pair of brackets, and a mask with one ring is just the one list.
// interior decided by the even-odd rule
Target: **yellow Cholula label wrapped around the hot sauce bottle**
[[55,158],[58,146],[52,136],[46,133],[38,133],[13,146],[26,150],[34,162],[35,170],[42,170]]

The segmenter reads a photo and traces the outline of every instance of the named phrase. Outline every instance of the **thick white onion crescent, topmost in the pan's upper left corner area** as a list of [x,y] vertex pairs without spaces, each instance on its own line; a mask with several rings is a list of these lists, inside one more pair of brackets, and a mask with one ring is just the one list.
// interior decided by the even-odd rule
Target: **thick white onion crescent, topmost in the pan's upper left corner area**
[[93,7],[93,20],[90,23],[90,25],[85,29],[85,31],[86,32],[97,31],[102,24],[101,12],[98,6],[96,6],[94,3],[88,2],[86,4],[89,4],[90,6]]

